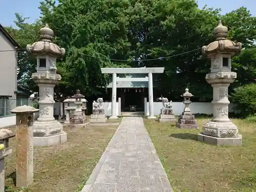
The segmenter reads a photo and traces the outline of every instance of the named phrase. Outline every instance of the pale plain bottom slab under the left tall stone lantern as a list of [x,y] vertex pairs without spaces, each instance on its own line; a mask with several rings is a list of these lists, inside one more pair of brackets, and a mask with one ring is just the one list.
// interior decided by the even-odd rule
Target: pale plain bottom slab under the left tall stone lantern
[[67,133],[63,131],[57,135],[51,135],[46,137],[33,137],[34,146],[51,146],[65,142],[67,142]]

